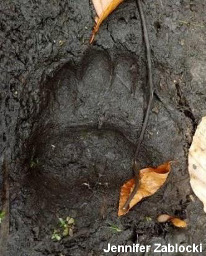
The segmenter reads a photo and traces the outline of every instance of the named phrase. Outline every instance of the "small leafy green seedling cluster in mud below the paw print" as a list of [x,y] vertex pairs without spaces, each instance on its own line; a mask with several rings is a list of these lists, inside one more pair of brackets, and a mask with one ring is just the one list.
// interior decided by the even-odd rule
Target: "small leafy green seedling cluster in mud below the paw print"
[[53,231],[52,239],[55,240],[61,240],[61,237],[66,237],[66,236],[73,236],[73,230],[75,226],[75,221],[73,217],[66,217],[66,219],[59,218],[60,221],[60,227],[59,229],[55,229]]

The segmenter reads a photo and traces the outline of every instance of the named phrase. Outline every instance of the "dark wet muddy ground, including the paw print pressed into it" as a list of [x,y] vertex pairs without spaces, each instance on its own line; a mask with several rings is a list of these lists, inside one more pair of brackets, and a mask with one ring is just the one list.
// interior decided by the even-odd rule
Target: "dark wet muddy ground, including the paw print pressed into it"
[[[206,216],[187,171],[192,136],[206,114],[206,4],[150,0],[144,10],[155,98],[141,167],[178,164],[158,193],[117,217],[148,93],[136,2],[123,2],[89,45],[91,1],[1,1],[0,156],[10,165],[9,255],[100,256],[108,243],[155,242],[202,243],[206,255]],[[188,227],[158,224],[161,213],[187,219]],[[58,217],[66,216],[76,221],[74,236],[52,240]]]

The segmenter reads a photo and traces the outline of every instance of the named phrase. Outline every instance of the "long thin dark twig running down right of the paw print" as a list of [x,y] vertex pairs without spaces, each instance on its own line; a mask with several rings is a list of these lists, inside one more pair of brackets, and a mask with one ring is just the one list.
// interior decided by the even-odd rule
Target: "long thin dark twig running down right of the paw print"
[[147,66],[148,66],[148,83],[149,83],[149,88],[150,88],[150,97],[149,97],[149,100],[148,100],[148,107],[146,109],[146,114],[145,114],[145,119],[144,119],[144,122],[143,122],[143,126],[141,127],[140,137],[139,137],[138,142],[137,142],[137,148],[136,148],[136,151],[135,151],[135,157],[134,157],[134,162],[133,162],[133,170],[135,171],[135,188],[133,189],[132,193],[130,194],[129,198],[127,199],[127,202],[123,206],[123,209],[128,208],[128,205],[130,204],[130,201],[132,200],[132,198],[135,196],[135,194],[138,190],[138,186],[140,184],[139,168],[138,168],[138,165],[137,165],[137,159],[138,159],[138,155],[140,153],[140,145],[141,145],[141,142],[142,142],[144,134],[145,134],[146,126],[148,124],[148,117],[150,115],[150,109],[151,109],[151,104],[152,104],[152,101],[153,101],[153,91],[154,91],[152,72],[151,72],[150,42],[149,42],[149,37],[148,37],[148,31],[147,31],[147,28],[146,28],[145,14],[143,12],[143,7],[142,7],[141,0],[137,0],[137,5],[138,5],[139,12],[140,12],[141,25],[142,25],[142,28],[143,28],[143,37],[144,37],[145,46],[146,46],[146,58],[147,58]]

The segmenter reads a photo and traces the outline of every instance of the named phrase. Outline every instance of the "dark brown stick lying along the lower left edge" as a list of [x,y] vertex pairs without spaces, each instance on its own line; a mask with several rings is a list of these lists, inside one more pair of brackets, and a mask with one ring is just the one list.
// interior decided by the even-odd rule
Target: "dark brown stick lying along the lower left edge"
[[7,240],[9,237],[9,167],[6,160],[2,164],[2,213],[5,217],[0,226],[0,255],[7,255]]

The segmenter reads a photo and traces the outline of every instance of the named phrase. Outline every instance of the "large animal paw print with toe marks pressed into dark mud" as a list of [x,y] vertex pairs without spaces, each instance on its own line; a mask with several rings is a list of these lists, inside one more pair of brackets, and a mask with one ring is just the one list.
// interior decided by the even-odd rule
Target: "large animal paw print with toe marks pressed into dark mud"
[[122,173],[132,173],[143,121],[137,63],[131,55],[112,60],[106,52],[87,53],[79,66],[64,65],[43,86],[47,104],[34,135],[43,170],[81,185],[94,183],[100,165],[102,182],[117,187]]

